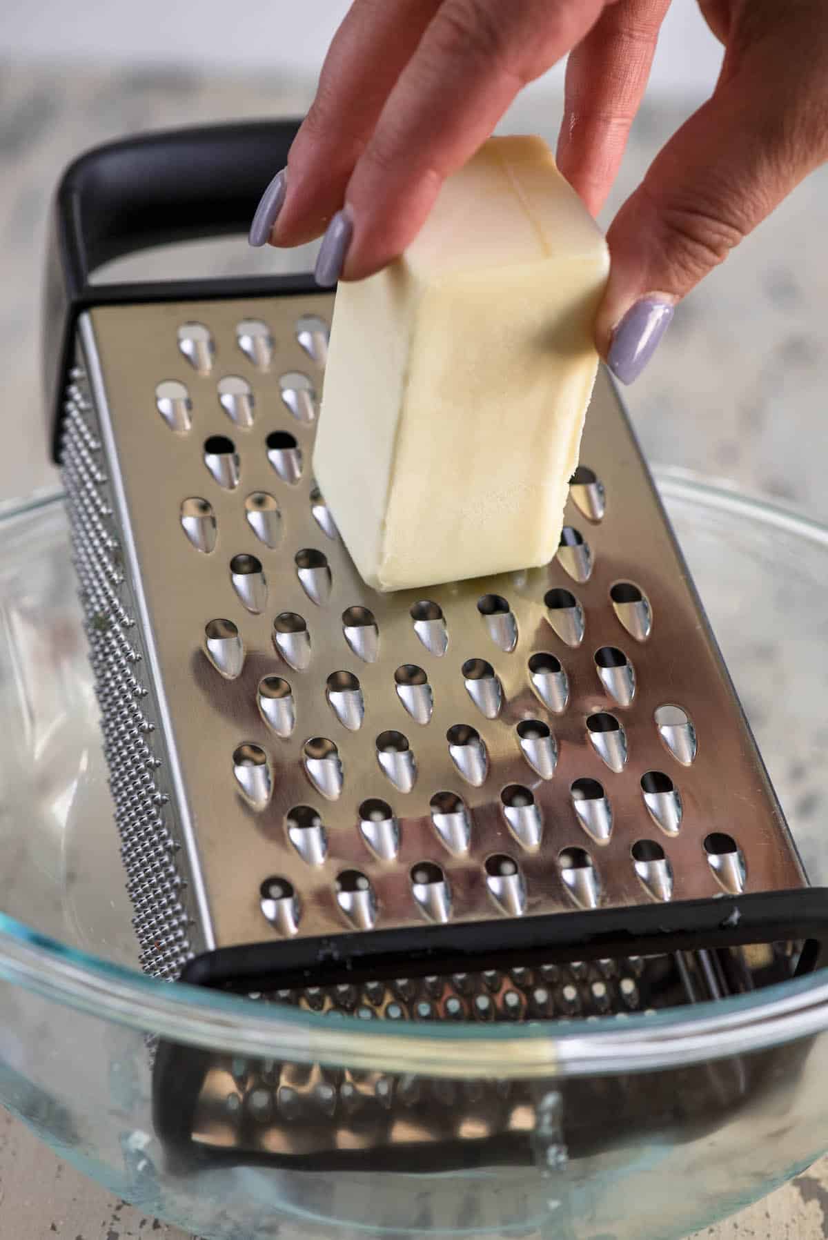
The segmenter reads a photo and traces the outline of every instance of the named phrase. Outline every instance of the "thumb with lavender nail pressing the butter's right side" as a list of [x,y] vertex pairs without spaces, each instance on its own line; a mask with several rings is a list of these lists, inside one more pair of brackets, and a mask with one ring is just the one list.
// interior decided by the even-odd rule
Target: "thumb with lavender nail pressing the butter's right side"
[[821,25],[819,50],[812,35],[804,56],[791,57],[788,27],[786,46],[765,38],[733,72],[725,58],[713,98],[664,146],[612,222],[596,343],[622,383],[647,365],[680,298],[828,156]]

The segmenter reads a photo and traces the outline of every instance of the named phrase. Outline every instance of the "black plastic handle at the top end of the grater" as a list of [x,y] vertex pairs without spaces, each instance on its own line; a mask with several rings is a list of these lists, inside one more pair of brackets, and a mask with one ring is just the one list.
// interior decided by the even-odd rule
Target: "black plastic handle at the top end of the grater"
[[93,284],[114,258],[150,246],[245,233],[285,165],[299,120],[247,120],[140,134],[95,146],[63,174],[52,208],[43,295],[42,367],[52,454],[78,314],[118,303],[271,296],[307,277]]

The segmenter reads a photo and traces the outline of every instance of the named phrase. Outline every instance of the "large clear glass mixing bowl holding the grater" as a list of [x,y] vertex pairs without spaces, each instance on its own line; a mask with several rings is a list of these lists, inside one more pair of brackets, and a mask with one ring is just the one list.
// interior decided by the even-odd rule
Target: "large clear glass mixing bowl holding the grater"
[[[826,884],[828,529],[674,472],[658,482],[811,880]],[[309,1228],[669,1240],[828,1148],[819,972],[672,1014],[450,1028],[332,1022],[141,976],[59,496],[0,513],[0,1101],[146,1213],[206,1240]],[[519,1086],[542,1120],[533,1156],[428,1173],[180,1157],[154,1130],[159,1038],[226,1052],[239,1070],[414,1074],[444,1101],[480,1081]]]

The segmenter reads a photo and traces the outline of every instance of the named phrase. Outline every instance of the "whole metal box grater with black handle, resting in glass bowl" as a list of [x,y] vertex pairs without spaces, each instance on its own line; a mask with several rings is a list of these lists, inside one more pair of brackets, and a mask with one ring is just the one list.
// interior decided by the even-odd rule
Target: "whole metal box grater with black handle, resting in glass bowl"
[[[605,373],[553,563],[381,595],[311,471],[332,296],[89,283],[242,231],[294,131],[113,144],[57,195],[50,408],[144,968],[355,1019],[526,1022],[816,967],[826,901]],[[154,1070],[167,1140],[234,1156],[509,1161],[537,1120],[503,1083],[171,1045]],[[751,1070],[711,1068],[695,1105]]]

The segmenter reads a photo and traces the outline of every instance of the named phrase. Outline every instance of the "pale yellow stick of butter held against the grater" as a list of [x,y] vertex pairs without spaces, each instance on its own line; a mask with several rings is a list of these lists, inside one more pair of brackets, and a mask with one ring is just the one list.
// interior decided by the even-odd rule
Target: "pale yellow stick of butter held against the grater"
[[340,284],[314,474],[368,585],[552,559],[609,265],[547,144],[492,138],[402,258]]

